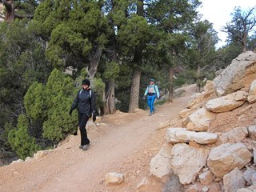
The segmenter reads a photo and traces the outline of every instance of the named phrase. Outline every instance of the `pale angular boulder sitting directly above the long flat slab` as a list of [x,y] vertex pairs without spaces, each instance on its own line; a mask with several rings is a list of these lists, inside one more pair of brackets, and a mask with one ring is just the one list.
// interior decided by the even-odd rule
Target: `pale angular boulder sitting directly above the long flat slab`
[[215,114],[206,110],[205,107],[196,110],[189,116],[189,122],[186,125],[188,130],[205,131],[208,130],[210,122],[215,118]]

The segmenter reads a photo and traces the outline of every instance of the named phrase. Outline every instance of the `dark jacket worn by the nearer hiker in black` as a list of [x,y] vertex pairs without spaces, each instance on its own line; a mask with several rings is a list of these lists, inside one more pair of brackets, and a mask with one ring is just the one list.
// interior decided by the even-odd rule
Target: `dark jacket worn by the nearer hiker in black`
[[96,114],[95,98],[95,94],[92,90],[79,90],[77,97],[72,103],[71,109],[74,110],[75,108],[77,108],[78,112],[82,114],[87,114],[88,117],[91,117],[92,113]]

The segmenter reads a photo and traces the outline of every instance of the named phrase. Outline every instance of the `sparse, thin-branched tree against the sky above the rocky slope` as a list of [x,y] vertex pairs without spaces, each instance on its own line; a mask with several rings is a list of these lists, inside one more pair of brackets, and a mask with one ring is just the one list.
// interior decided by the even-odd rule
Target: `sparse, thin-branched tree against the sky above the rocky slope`
[[242,52],[246,52],[249,33],[256,26],[255,10],[256,7],[253,7],[245,12],[241,10],[241,7],[235,7],[234,12],[231,14],[231,22],[227,22],[222,29],[228,34],[230,42],[239,42],[241,44]]

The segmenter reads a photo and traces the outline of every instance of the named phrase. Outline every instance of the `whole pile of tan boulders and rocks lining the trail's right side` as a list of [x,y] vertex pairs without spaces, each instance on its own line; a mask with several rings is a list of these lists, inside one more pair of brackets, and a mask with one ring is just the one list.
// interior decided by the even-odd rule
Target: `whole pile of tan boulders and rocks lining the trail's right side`
[[182,191],[256,191],[256,125],[210,133],[217,114],[256,102],[256,54],[240,54],[179,113],[183,127],[166,131],[152,158],[155,177],[177,177]]

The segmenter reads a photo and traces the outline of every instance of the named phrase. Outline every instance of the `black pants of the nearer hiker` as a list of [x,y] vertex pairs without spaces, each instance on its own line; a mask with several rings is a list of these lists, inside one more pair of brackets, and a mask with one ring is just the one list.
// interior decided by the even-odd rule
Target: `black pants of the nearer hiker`
[[90,140],[87,137],[87,131],[86,131],[86,123],[88,122],[88,115],[87,114],[81,114],[78,112],[78,124],[81,134],[81,146],[87,145],[90,143]]

